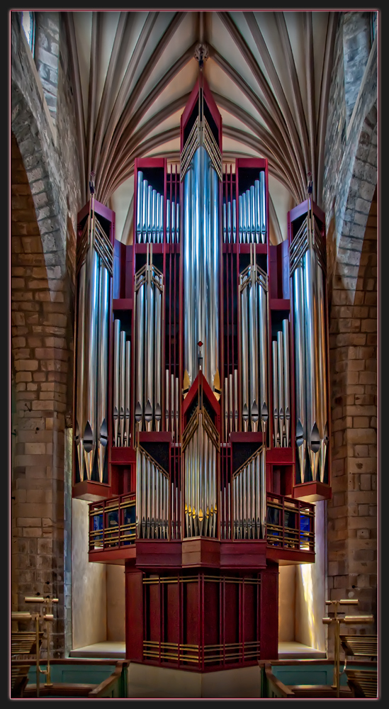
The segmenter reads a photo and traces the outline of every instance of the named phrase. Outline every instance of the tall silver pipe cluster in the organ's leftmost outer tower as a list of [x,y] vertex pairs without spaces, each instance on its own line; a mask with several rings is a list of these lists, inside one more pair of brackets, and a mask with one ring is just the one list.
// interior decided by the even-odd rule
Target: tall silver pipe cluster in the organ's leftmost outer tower
[[108,444],[108,312],[113,247],[94,211],[77,247],[77,372],[75,442],[80,480],[91,480],[96,462],[98,479]]

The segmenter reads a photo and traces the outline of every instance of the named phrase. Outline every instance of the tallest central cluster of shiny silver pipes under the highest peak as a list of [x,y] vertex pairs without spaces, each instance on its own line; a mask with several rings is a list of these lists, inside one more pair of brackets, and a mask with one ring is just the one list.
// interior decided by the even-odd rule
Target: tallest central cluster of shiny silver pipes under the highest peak
[[184,368],[192,384],[197,342],[203,342],[203,374],[211,388],[219,350],[218,196],[218,174],[200,146],[184,177]]

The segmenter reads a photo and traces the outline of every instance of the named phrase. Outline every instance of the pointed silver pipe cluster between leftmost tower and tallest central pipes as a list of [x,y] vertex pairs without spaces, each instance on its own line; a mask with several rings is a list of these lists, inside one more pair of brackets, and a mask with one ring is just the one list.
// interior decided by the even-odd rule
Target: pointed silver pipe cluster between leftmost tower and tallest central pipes
[[139,430],[161,430],[163,275],[152,262],[135,274],[135,421]]

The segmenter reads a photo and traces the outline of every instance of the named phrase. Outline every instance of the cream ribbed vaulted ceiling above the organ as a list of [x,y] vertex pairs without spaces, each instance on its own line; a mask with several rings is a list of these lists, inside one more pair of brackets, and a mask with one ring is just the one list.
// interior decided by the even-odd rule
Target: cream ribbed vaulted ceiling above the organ
[[[206,45],[205,79],[222,115],[223,162],[269,160],[270,237],[305,199],[321,203],[336,12],[64,12],[84,186],[133,238],[135,157],[179,161],[179,125]],[[84,193],[86,199],[86,193]]]

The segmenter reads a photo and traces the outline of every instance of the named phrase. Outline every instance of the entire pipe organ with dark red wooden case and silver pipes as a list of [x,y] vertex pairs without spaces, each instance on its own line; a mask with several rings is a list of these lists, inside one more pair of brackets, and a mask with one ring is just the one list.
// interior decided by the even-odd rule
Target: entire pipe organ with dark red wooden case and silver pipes
[[329,498],[325,216],[269,242],[268,166],[222,163],[202,74],[181,161],[135,160],[133,244],[79,214],[73,495],[125,564],[126,657],[210,671],[278,654],[278,564]]

